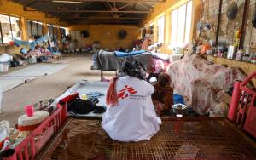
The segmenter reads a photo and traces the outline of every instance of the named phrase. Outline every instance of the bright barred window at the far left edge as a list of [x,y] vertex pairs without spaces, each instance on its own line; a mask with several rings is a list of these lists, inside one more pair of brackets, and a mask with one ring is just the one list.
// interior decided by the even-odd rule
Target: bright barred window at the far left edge
[[0,43],[21,39],[20,19],[0,14]]

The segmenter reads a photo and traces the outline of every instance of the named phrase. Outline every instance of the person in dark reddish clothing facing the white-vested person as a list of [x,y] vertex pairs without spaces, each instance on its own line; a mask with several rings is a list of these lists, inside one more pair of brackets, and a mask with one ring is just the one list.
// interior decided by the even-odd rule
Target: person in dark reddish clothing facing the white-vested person
[[171,77],[166,73],[160,73],[158,81],[154,83],[152,100],[158,116],[169,116],[173,105],[173,89],[170,86]]

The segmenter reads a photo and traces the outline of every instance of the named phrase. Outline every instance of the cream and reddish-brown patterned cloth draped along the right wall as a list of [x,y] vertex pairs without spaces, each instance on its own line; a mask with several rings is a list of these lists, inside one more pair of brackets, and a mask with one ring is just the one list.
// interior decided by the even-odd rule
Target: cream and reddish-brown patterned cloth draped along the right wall
[[187,106],[200,115],[219,111],[223,107],[220,97],[233,87],[244,75],[236,68],[208,65],[199,55],[185,54],[182,60],[173,62],[167,68],[171,76],[174,93],[183,95]]

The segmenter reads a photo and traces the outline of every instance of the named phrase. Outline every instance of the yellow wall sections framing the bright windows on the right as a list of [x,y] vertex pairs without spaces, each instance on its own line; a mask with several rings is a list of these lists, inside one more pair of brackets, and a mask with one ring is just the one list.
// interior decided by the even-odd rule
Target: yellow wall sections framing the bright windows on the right
[[[171,33],[171,12],[173,9],[177,9],[179,6],[187,3],[189,0],[166,0],[163,3],[156,3],[152,12],[148,14],[148,16],[143,20],[141,26],[148,26],[150,23],[154,22],[154,43],[157,42],[157,19],[164,15],[165,20],[165,43],[161,52],[166,54],[172,54],[172,50],[169,49],[169,40]],[[201,17],[201,0],[192,0],[192,20],[191,20],[191,29],[190,29],[190,40],[196,37],[196,24],[197,21],[200,20]],[[148,31],[147,31],[148,32]]]

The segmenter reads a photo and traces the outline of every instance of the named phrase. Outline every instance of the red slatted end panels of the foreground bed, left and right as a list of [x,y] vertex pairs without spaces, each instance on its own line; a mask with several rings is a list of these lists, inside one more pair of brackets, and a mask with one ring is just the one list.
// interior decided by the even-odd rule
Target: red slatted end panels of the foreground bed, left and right
[[[243,82],[235,83],[228,119],[256,137],[256,91],[246,87],[247,83],[253,78],[256,78],[256,71]],[[34,160],[50,138],[61,130],[66,120],[66,106],[58,104],[56,111],[15,147],[15,154],[3,158],[3,160]]]

